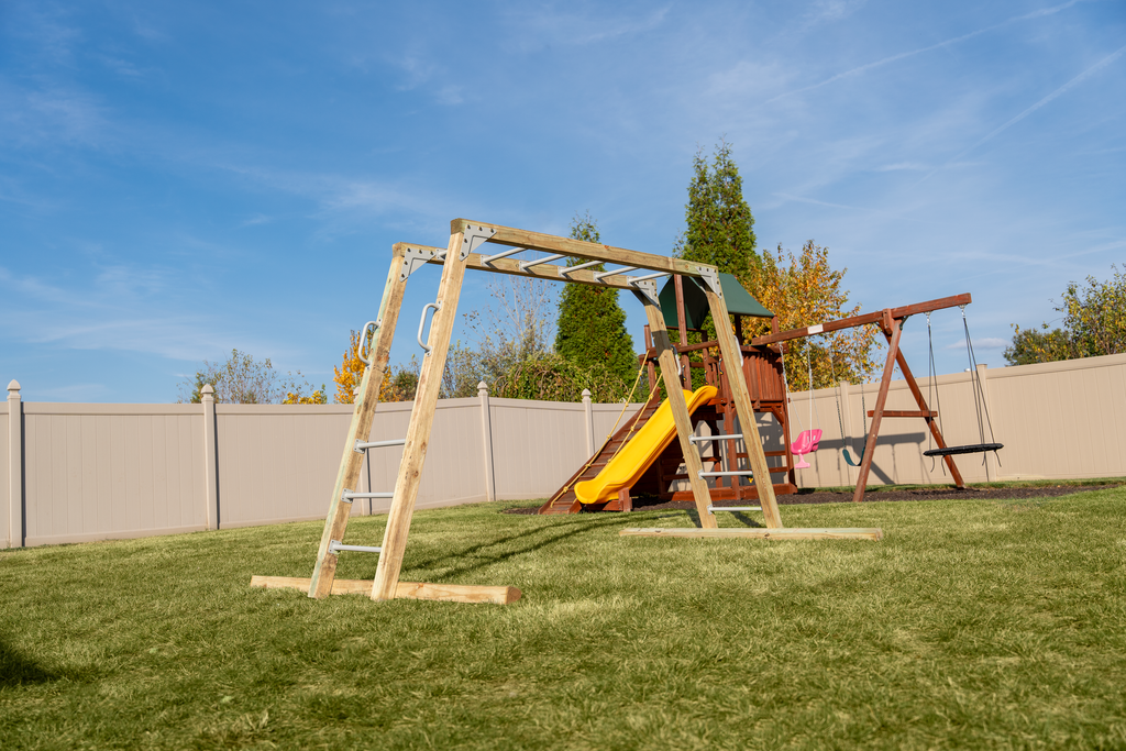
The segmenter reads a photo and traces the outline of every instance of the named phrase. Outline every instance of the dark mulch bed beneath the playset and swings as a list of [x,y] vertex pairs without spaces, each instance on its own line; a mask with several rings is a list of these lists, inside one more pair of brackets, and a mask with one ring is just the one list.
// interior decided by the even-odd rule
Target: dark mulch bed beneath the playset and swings
[[[1118,485],[1028,485],[1017,488],[917,488],[913,490],[873,490],[865,495],[867,501],[938,501],[951,498],[973,498],[982,500],[1026,500],[1033,498],[1055,498],[1072,493],[1084,493],[1092,490],[1107,490]],[[832,493],[819,490],[803,490],[793,495],[779,495],[779,506],[794,503],[848,503],[852,493]],[[753,506],[754,501],[716,501],[716,507]],[[635,498],[634,510],[642,509],[695,509],[691,501],[662,501],[659,498]],[[504,513],[535,513],[537,507],[504,509]]]

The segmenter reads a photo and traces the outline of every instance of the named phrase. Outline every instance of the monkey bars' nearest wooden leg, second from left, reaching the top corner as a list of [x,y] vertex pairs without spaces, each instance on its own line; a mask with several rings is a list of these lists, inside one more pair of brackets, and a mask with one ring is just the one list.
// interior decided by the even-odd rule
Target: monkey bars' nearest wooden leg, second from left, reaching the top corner
[[441,309],[434,314],[434,322],[430,324],[428,340],[430,351],[422,358],[414,408],[411,410],[411,423],[406,428],[403,459],[399,464],[395,494],[387,515],[387,528],[383,533],[383,552],[379,553],[379,564],[375,570],[373,600],[395,598],[411,517],[414,515],[414,500],[418,498],[419,483],[422,480],[422,465],[430,444],[430,429],[434,427],[434,412],[438,405],[438,392],[441,388],[441,374],[446,367],[449,338],[457,318],[462,279],[465,278],[467,257],[461,256],[463,240],[462,232],[450,235],[446,262],[441,267],[441,283],[438,286],[438,302],[441,303]]

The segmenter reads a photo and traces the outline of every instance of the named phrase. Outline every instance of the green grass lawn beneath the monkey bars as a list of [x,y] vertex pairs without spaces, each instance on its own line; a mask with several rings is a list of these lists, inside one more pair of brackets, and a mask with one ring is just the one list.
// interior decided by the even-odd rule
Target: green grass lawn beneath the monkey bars
[[1126,489],[783,508],[878,543],[503,506],[417,513],[402,578],[509,606],[248,585],[320,522],[0,552],[0,749],[1126,748]]

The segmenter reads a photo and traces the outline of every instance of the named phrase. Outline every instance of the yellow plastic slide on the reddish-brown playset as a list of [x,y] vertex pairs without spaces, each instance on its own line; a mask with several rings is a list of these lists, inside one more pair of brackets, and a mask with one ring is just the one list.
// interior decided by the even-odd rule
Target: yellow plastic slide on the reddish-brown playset
[[[686,391],[688,413],[691,414],[700,404],[715,399],[716,393],[715,386],[700,386],[696,393]],[[676,437],[677,423],[672,420],[672,408],[669,406],[669,400],[664,400],[649,422],[602,467],[597,477],[574,486],[575,497],[582,503],[604,503],[615,499],[619,490],[637,482]]]

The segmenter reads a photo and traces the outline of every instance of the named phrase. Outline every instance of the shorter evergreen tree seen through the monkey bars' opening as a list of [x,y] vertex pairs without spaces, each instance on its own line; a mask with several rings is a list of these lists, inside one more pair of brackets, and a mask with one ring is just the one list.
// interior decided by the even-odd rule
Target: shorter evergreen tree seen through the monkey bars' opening
[[[575,215],[571,236],[601,242],[598,224],[588,212]],[[570,266],[583,262],[569,259]],[[602,266],[592,267],[602,270]],[[626,314],[618,305],[618,290],[586,284],[569,284],[560,295],[558,330],[555,351],[582,370],[605,368],[623,384],[626,395],[637,374],[637,356],[626,331]]]

